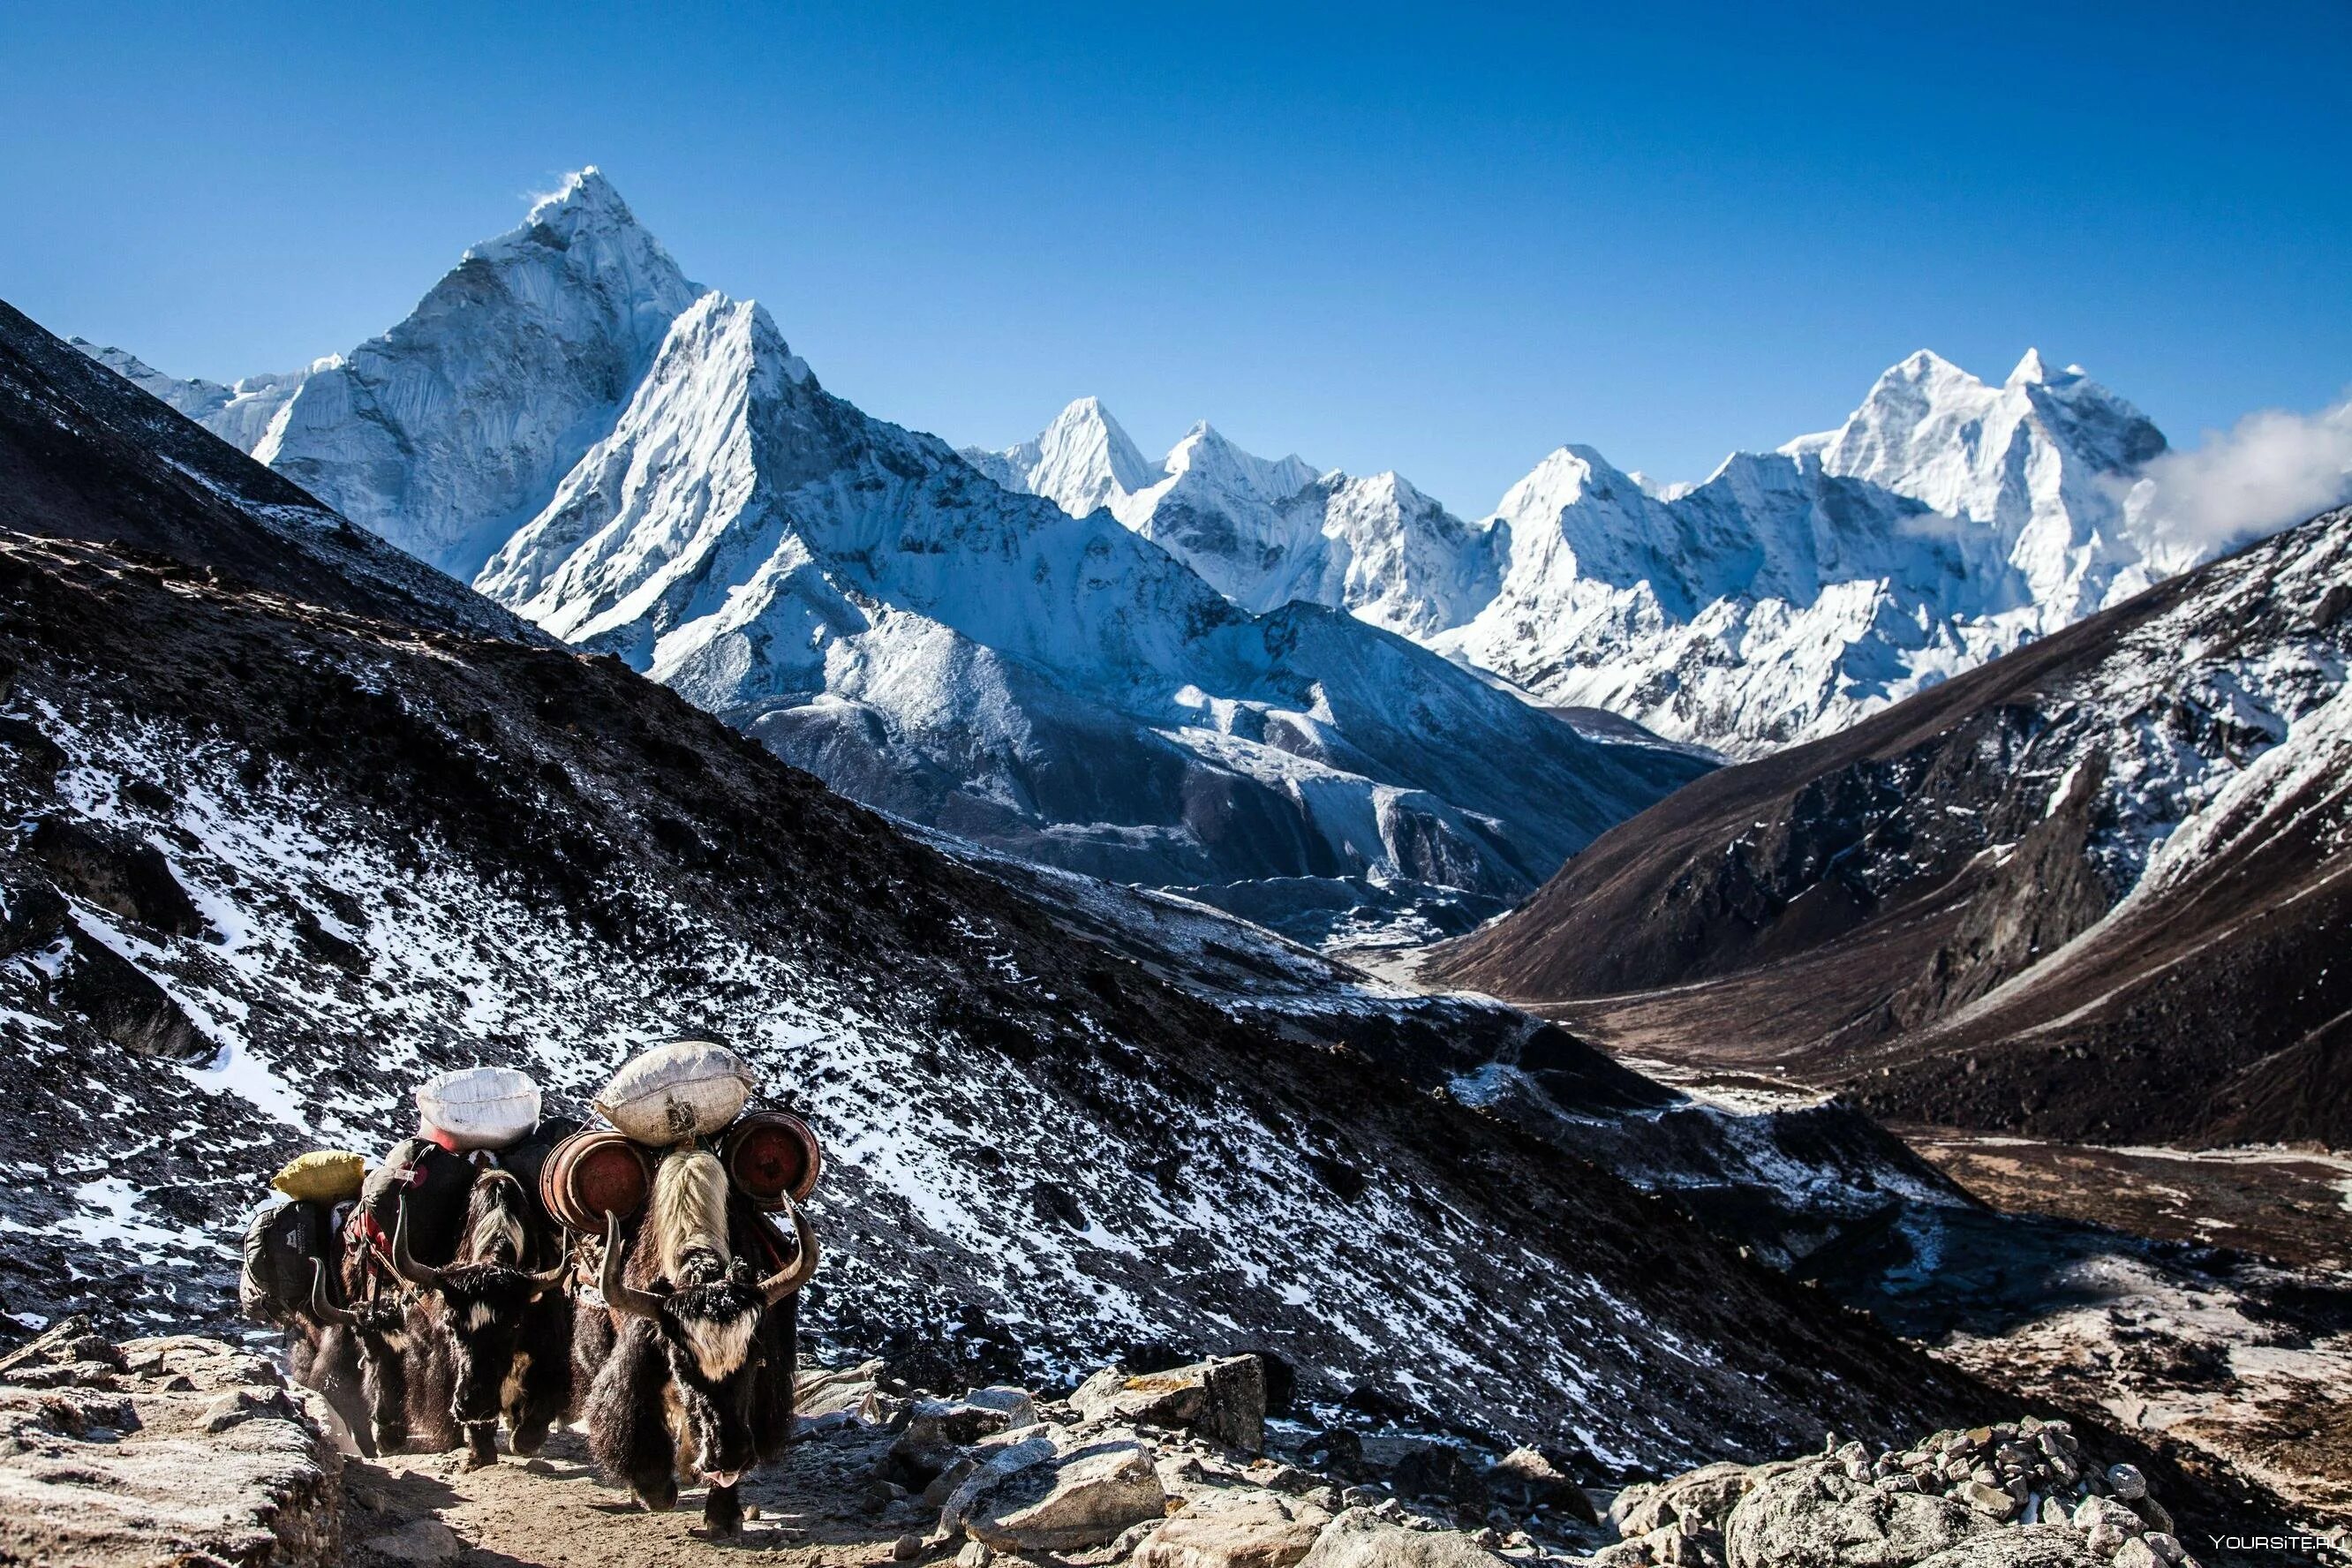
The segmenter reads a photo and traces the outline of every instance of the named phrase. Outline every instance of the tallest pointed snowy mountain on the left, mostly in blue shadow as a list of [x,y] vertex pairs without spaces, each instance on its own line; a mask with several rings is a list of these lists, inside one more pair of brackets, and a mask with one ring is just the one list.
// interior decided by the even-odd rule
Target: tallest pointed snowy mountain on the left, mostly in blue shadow
[[[1364,905],[1458,929],[1703,771],[1324,604],[1251,614],[1117,520],[870,418],[593,169],[393,331],[273,386],[254,456],[851,797],[1305,936]],[[247,433],[235,397],[165,395]],[[1148,477],[1110,430],[1110,480]],[[1308,477],[1209,433],[1188,451],[1164,494],[1204,508]]]

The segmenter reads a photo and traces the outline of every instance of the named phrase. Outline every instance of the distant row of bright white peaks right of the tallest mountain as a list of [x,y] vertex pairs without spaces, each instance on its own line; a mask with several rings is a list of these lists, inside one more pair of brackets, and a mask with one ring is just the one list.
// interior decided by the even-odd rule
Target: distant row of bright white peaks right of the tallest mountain
[[2027,353],[1990,386],[1919,353],[1842,428],[1700,484],[1559,447],[1468,524],[1397,475],[1268,463],[1207,425],[1145,463],[1096,400],[964,456],[1070,512],[1110,510],[1254,609],[1348,609],[1541,703],[1759,755],[2201,559],[2126,505],[2159,451],[2079,367]]

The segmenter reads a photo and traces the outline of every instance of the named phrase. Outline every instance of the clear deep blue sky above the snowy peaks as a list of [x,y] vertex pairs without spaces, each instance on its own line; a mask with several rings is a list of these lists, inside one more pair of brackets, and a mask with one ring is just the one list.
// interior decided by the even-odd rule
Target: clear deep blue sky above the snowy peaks
[[887,418],[1096,393],[1484,512],[1569,440],[1698,477],[1922,346],[2037,343],[2178,444],[2340,397],[2347,80],[2343,0],[12,5],[0,296],[282,369],[597,162]]

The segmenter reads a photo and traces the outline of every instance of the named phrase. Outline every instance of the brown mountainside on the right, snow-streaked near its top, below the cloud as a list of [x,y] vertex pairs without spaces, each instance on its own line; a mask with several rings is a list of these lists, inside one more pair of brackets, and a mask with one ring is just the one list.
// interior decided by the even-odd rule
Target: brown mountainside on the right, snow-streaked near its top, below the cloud
[[2338,510],[1691,785],[1442,966],[1889,1114],[2352,1143],[2347,583]]

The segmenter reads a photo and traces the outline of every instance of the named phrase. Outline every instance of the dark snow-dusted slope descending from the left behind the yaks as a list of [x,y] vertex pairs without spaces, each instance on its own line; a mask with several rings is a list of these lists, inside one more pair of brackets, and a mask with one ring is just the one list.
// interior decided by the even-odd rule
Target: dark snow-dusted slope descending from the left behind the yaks
[[[64,353],[0,317],[0,1161],[40,1171],[0,1185],[5,1309],[219,1321],[266,1173],[381,1147],[419,1077],[513,1063],[564,1107],[720,1030],[833,1157],[835,1347],[946,1378],[1270,1349],[1310,1401],[1651,1469],[1983,1408],[1616,1175],[1169,985],[619,661],[369,578],[381,543],[143,395],[45,381]],[[1661,1098],[1538,1044],[1569,1110]]]

